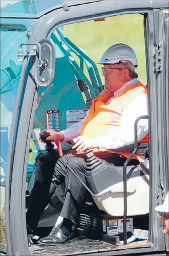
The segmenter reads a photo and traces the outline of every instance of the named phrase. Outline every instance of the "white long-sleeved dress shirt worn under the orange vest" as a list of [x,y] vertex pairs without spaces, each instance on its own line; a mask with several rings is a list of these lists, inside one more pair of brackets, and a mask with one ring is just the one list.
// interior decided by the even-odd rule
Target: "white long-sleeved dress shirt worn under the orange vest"
[[[126,86],[130,84],[136,84],[137,82],[138,82],[137,79],[131,80],[130,82],[124,84],[120,89],[118,89],[114,93],[114,95],[117,95]],[[111,101],[111,99],[109,101]],[[147,95],[140,94],[135,100],[133,100],[129,104],[129,106],[125,109],[125,111],[123,111],[120,127],[118,127],[118,130],[115,126],[110,125],[110,129],[107,131],[107,133],[95,138],[95,140],[97,141],[97,144],[99,145],[99,149],[100,150],[118,149],[125,145],[133,144],[135,120],[138,117],[144,116],[144,115],[148,115]],[[82,125],[85,119],[83,119],[79,123],[74,123],[68,129],[61,131],[61,133],[64,134],[65,136],[64,142],[71,141],[72,139],[80,135]],[[141,119],[138,122],[138,133],[137,133],[138,141],[143,139],[145,135],[149,132],[148,123],[149,122],[147,119]]]

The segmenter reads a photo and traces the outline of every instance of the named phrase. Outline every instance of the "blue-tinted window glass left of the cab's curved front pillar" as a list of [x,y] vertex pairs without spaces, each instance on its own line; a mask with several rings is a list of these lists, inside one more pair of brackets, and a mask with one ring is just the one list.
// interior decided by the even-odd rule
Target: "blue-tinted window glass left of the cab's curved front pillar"
[[25,30],[1,29],[1,251],[6,247],[5,179],[8,145],[22,62],[18,62],[20,43],[27,42]]

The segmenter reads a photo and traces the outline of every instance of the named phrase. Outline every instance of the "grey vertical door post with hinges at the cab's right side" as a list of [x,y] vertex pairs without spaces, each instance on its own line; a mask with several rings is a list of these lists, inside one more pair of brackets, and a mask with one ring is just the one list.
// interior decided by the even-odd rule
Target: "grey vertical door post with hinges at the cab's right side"
[[[147,41],[147,81],[150,101],[150,235],[151,241],[158,251],[168,250],[168,239],[163,233],[163,225],[160,221],[160,214],[155,207],[163,203],[164,196],[168,191],[168,23],[165,24],[164,15],[168,9],[154,9],[149,15],[149,22],[146,23],[145,39]],[[168,19],[168,18],[167,18]],[[156,30],[154,30],[154,27]],[[153,33],[154,30],[154,33]],[[153,46],[153,47],[152,47]],[[153,58],[151,57],[153,53]],[[152,67],[154,66],[154,69]],[[149,77],[150,76],[150,77]],[[149,78],[148,78],[149,77]],[[166,131],[164,133],[164,131]],[[157,147],[154,147],[154,141]]]

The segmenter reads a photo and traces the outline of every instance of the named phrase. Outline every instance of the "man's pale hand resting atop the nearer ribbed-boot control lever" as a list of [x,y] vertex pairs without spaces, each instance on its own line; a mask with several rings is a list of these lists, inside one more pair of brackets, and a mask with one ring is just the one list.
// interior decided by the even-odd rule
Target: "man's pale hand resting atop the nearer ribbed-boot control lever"
[[78,136],[77,138],[73,139],[75,143],[72,149],[76,149],[76,151],[85,151],[87,149],[99,149],[99,145],[97,141],[93,138],[89,138],[86,136]]

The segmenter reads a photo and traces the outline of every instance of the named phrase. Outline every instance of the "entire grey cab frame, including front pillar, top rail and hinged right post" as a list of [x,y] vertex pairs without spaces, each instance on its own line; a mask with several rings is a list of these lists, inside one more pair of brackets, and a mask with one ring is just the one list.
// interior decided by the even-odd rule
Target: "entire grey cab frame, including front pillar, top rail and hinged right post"
[[[168,65],[167,61],[165,63],[165,54],[168,54],[168,47],[165,46],[167,50],[165,53],[163,47],[166,42],[163,41],[164,37],[160,31],[160,26],[163,29],[164,12],[168,13],[168,3],[166,1],[68,1],[38,14],[22,17],[24,20],[35,19],[31,27],[28,28],[27,26],[27,30],[29,29],[28,42],[38,43],[40,40],[49,39],[57,27],[66,24],[120,14],[144,14],[147,85],[150,102],[150,169],[153,170],[150,175],[151,247],[110,251],[106,255],[133,253],[149,255],[153,251],[154,253],[159,251],[159,254],[155,253],[156,255],[165,255],[164,251],[169,247],[167,238],[163,234],[159,213],[154,210],[157,204],[162,203],[168,190],[168,99],[164,97],[163,93],[160,93],[162,91],[168,94],[168,69],[165,67]],[[13,18],[13,25],[17,27],[20,24],[21,17],[18,14],[15,16],[8,14],[2,15],[1,25],[9,26],[11,18]],[[28,20],[26,22],[28,24]],[[165,30],[165,33],[167,33],[167,30]],[[161,45],[159,46],[160,41]],[[23,62],[9,143],[5,209],[8,255],[29,255],[25,216],[26,172],[35,105],[38,97],[38,86],[32,79],[36,72],[35,56],[29,56],[32,47],[31,45],[28,46],[27,56]],[[159,47],[161,47],[160,52]],[[161,63],[158,59],[159,54],[161,54]],[[154,65],[155,68],[153,68]],[[166,131],[165,134],[162,132],[163,130]],[[96,254],[92,253],[92,255]],[[101,252],[97,255],[105,255],[105,253]]]

